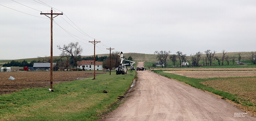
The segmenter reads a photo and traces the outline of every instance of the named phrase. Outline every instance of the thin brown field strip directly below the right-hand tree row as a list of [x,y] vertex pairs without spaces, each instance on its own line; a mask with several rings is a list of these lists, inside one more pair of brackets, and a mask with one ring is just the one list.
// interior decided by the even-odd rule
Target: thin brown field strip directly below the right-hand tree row
[[229,70],[237,70],[237,71],[250,71],[255,70],[256,68],[154,68],[154,70],[214,70],[214,71],[229,71]]

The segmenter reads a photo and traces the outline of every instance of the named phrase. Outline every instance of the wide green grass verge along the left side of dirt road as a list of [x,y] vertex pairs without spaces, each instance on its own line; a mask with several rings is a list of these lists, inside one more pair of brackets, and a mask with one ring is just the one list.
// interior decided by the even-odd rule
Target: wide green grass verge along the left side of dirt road
[[115,108],[118,96],[129,89],[135,71],[128,74],[106,73],[96,75],[95,80],[55,84],[54,92],[30,88],[0,95],[0,120],[97,120],[102,113]]

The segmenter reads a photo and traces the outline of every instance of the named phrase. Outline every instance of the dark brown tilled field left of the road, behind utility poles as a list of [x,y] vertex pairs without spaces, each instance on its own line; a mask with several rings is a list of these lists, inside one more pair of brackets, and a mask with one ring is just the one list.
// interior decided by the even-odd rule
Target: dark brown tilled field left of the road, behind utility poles
[[[103,73],[103,71],[96,71],[96,74],[99,73]],[[10,76],[15,80],[8,80]],[[92,76],[93,71],[53,72],[53,84]],[[0,72],[0,95],[23,88],[48,87],[49,85],[50,72]]]

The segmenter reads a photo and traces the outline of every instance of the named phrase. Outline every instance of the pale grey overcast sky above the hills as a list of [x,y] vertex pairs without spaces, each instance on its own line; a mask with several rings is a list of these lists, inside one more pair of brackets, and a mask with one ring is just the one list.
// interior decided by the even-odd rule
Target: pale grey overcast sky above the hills
[[[109,53],[106,46],[124,53],[146,54],[153,54],[155,50],[170,50],[172,54],[182,51],[188,55],[207,49],[217,52],[256,50],[255,0],[14,1],[43,13],[50,12],[50,7],[39,4],[40,1],[62,11],[86,34],[102,42],[96,44],[96,54]],[[0,0],[0,4],[47,18],[14,1]],[[50,20],[1,5],[0,59],[50,56]],[[54,23],[53,55],[60,54],[57,45],[77,41],[83,48],[82,55],[92,55],[93,46],[87,40],[93,39],[66,23],[65,20],[72,24],[66,16],[60,16],[54,18],[55,22],[85,40],[77,37],[84,43],[75,40]]]

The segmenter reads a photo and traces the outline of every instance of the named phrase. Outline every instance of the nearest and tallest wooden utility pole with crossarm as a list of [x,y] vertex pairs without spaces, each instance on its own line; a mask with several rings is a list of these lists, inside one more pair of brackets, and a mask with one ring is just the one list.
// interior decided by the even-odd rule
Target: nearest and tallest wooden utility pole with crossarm
[[[51,63],[50,63],[50,88],[53,88],[53,53],[52,53],[52,20],[53,18],[59,16],[59,15],[63,15],[63,13],[53,13],[53,11],[51,10],[51,13],[40,13],[41,15],[44,14],[45,16],[47,15],[51,15],[51,17],[49,17],[51,19],[51,50],[50,50],[50,53],[51,53]],[[57,15],[55,17],[53,17],[53,15]],[[48,17],[48,16],[47,16]]]

